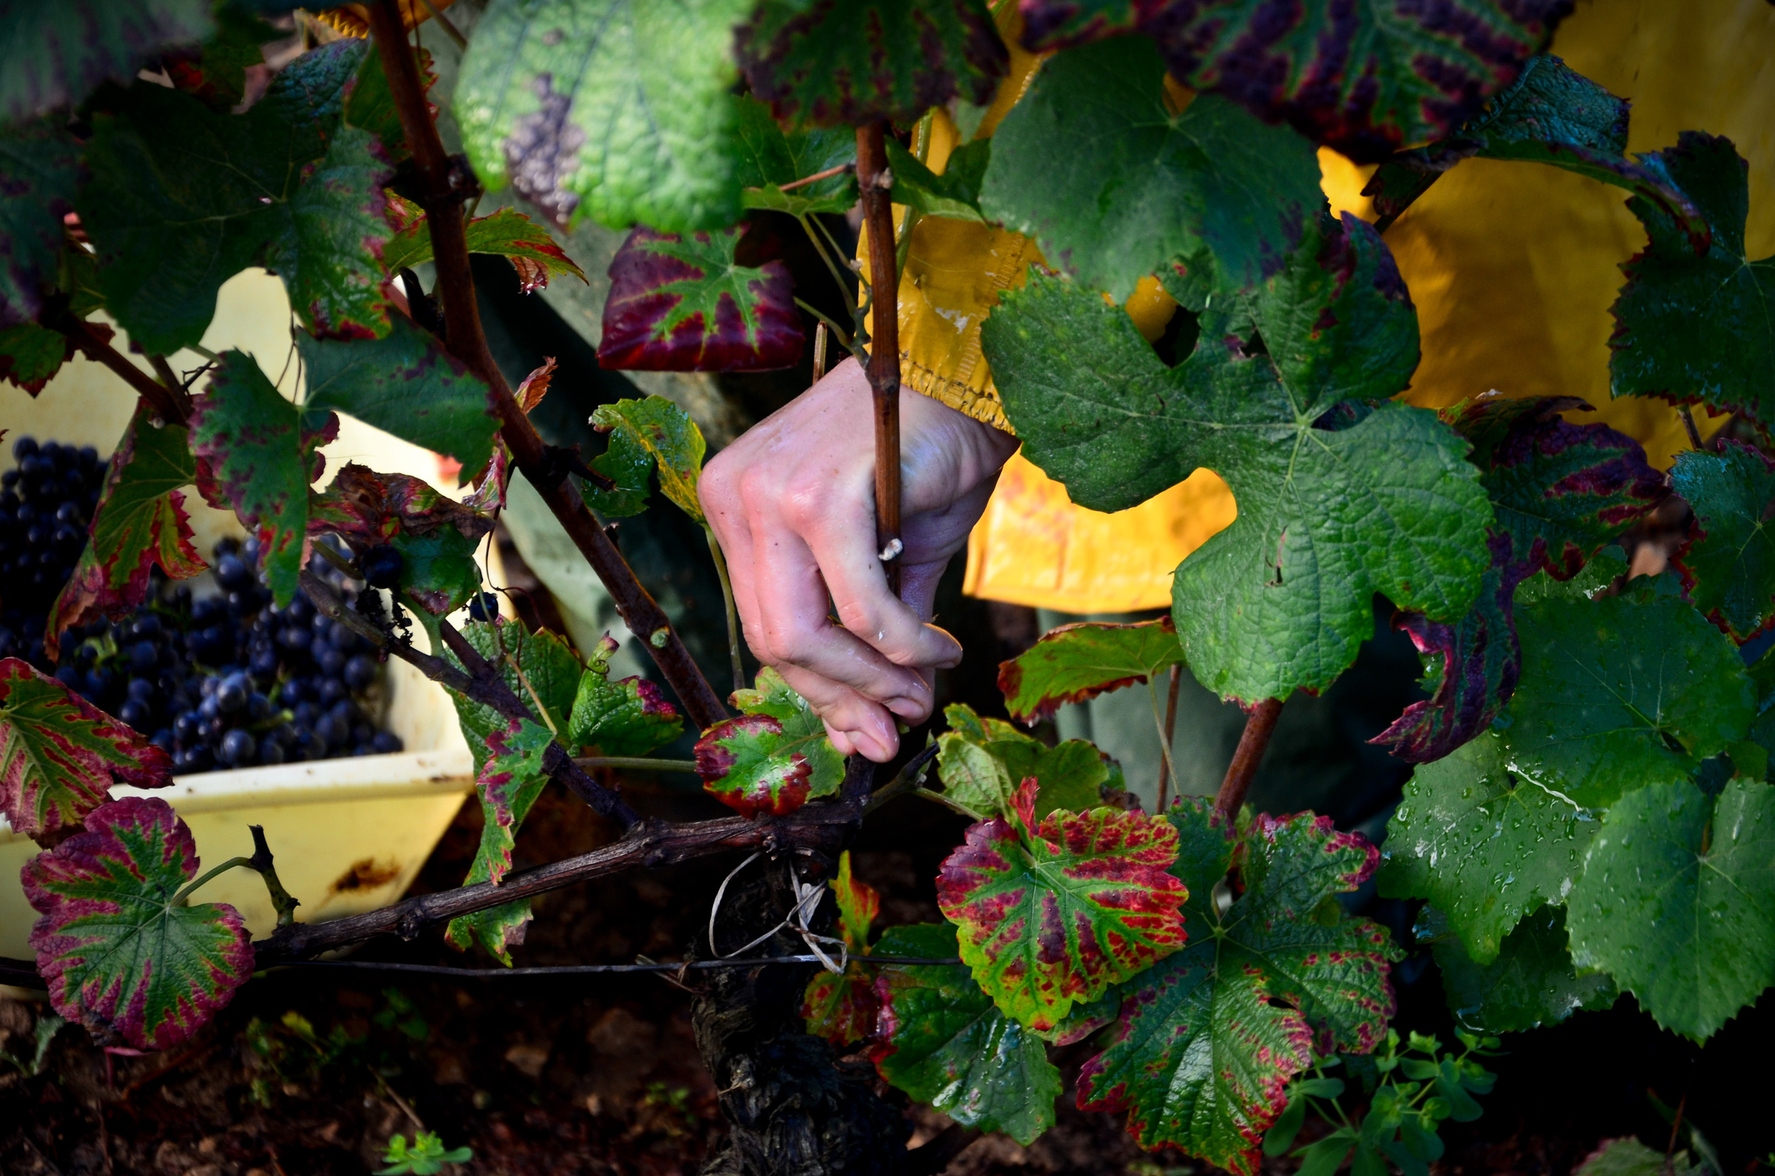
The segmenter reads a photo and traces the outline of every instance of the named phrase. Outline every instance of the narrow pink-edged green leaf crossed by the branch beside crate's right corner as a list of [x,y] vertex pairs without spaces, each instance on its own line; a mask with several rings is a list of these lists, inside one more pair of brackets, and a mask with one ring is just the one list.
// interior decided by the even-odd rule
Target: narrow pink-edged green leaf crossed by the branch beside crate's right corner
[[[543,755],[552,743],[554,735],[547,727],[529,719],[511,719],[477,748],[481,762],[474,783],[481,794],[481,844],[463,879],[465,886],[497,883],[511,872],[518,826],[548,783]],[[479,942],[490,956],[509,968],[511,947],[524,942],[529,920],[531,902],[520,899],[486,911],[458,915],[444,929],[444,940],[456,950],[469,950],[470,943]]]

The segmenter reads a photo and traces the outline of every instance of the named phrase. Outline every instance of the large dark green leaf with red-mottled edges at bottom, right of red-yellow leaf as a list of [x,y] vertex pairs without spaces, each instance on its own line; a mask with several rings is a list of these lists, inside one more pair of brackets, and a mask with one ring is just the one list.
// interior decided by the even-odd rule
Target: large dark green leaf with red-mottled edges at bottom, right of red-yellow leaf
[[[1115,1039],[1079,1071],[1079,1107],[1127,1112],[1143,1148],[1253,1176],[1314,1052],[1367,1053],[1386,1036],[1388,965],[1400,952],[1337,906],[1379,854],[1312,814],[1260,815],[1244,835],[1207,798],[1168,817],[1189,945],[1122,988]],[[1235,860],[1244,892],[1219,915],[1214,888]]]

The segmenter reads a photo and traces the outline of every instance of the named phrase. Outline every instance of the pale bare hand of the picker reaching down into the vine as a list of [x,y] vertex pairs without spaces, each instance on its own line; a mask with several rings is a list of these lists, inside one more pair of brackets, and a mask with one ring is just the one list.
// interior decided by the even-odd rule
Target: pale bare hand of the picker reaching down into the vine
[[[698,497],[733,576],[746,643],[845,755],[888,762],[895,719],[930,718],[960,643],[930,624],[937,579],[985,510],[1017,439],[900,391],[900,595],[875,549],[870,384],[854,359],[708,464]],[[834,620],[836,615],[836,620]]]

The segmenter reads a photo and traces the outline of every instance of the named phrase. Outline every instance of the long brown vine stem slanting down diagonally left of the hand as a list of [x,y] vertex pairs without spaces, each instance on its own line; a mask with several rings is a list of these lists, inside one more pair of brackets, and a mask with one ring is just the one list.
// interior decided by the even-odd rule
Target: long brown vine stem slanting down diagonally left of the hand
[[641,586],[616,544],[586,510],[579,489],[566,476],[566,467],[552,458],[550,448],[543,444],[536,426],[511,394],[499,364],[493,362],[486,332],[481,329],[474,275],[469,270],[469,238],[462,219],[462,204],[476,188],[474,179],[444,153],[437,126],[426,110],[424,87],[419,83],[419,68],[406,43],[398,0],[371,4],[369,20],[389,91],[401,117],[401,131],[414,156],[419,204],[426,211],[426,229],[431,234],[437,290],[444,300],[444,346],[492,389],[493,410],[501,419],[499,433],[518,469],[548,503],[548,510],[559,519],[573,545],[604,581],[616,611],[653,654],[660,673],[683,702],[685,712],[698,727],[719,723],[728,716],[721,696],[703,677],[703,670],[690,657],[666,611]]

